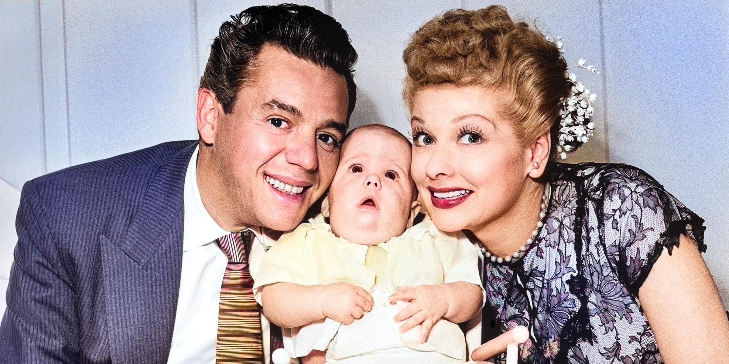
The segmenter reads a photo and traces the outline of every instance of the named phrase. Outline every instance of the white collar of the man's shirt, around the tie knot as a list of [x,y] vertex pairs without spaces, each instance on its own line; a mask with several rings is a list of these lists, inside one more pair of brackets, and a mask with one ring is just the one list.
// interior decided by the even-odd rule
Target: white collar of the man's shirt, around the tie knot
[[[213,220],[208,210],[206,210],[205,205],[203,205],[203,199],[200,197],[197,178],[199,151],[200,146],[197,146],[192,153],[190,163],[187,165],[187,173],[184,177],[183,252],[214,242],[219,237],[230,234],[230,232],[227,232]],[[254,232],[256,235],[255,241],[260,242],[264,248],[269,248],[273,245],[273,240],[263,234],[260,226],[250,226],[246,229]]]

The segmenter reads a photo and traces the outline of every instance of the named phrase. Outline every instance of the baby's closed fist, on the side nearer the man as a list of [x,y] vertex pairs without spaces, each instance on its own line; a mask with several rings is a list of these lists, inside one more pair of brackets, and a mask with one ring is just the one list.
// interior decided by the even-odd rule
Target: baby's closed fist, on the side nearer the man
[[349,283],[332,283],[321,289],[321,314],[345,325],[370,312],[375,304],[369,292]]

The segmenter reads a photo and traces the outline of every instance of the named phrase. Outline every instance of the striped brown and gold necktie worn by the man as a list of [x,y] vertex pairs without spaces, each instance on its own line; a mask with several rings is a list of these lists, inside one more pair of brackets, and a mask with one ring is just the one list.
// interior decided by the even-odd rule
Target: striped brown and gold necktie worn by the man
[[220,288],[215,363],[263,364],[260,310],[248,272],[253,238],[253,232],[246,230],[217,240],[228,264]]

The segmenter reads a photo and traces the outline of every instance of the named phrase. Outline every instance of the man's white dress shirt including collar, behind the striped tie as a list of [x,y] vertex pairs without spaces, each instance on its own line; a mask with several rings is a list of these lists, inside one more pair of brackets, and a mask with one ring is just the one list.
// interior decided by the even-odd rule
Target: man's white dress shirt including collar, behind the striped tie
[[[227,265],[227,258],[215,240],[230,232],[222,229],[203,206],[196,174],[199,150],[198,146],[192,153],[184,178],[182,277],[168,364],[215,363],[220,286]],[[263,253],[273,241],[259,227],[250,229],[256,235],[248,259],[255,279]],[[261,317],[261,324],[263,352],[268,364],[268,320]]]

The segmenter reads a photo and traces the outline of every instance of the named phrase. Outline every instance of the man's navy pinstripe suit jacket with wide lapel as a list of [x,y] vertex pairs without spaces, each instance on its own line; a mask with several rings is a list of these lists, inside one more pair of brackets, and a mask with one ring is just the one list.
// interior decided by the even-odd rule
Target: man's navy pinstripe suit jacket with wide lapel
[[23,186],[1,363],[166,363],[195,141],[77,165]]

